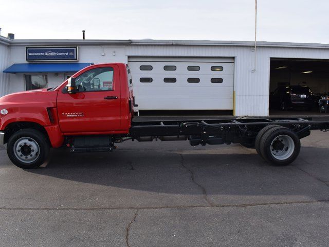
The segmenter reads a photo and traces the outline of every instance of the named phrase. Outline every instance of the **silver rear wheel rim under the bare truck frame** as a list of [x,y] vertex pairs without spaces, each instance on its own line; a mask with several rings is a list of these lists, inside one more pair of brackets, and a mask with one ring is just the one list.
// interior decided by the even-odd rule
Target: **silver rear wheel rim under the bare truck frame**
[[286,160],[295,150],[293,138],[288,135],[279,135],[272,140],[270,152],[277,160]]

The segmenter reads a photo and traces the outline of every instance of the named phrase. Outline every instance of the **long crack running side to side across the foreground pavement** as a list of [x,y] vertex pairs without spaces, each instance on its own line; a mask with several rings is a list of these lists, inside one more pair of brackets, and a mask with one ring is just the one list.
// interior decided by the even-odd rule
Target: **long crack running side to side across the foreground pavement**
[[310,201],[291,201],[291,202],[264,202],[264,203],[245,203],[245,204],[213,204],[213,205],[176,205],[176,206],[154,206],[154,207],[54,207],[54,208],[31,208],[31,207],[0,207],[0,210],[148,210],[148,209],[169,209],[169,208],[225,208],[225,207],[255,207],[255,206],[271,206],[271,205],[291,205],[291,204],[309,204],[309,203],[329,203],[328,199],[310,200]]

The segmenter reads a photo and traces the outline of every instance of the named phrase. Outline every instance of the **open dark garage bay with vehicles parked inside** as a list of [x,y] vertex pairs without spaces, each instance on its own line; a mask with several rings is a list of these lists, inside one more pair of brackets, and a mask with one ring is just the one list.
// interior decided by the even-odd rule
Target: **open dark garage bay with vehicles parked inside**
[[328,114],[329,61],[271,58],[269,92],[270,116]]

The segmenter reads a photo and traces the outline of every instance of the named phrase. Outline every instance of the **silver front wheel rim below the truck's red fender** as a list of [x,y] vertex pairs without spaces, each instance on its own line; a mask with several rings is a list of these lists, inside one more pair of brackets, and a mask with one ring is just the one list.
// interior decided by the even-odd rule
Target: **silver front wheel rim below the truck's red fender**
[[33,138],[21,137],[16,140],[13,151],[19,161],[32,163],[39,157],[40,147]]

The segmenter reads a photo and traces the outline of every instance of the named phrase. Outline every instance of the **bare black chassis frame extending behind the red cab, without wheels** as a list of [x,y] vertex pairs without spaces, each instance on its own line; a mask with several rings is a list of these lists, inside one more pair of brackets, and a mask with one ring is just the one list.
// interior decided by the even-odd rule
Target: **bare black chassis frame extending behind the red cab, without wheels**
[[130,129],[132,137],[161,135],[197,135],[200,130],[208,134],[232,131],[255,131],[268,125],[279,125],[289,129],[329,130],[329,121],[313,121],[312,118],[242,118],[204,120],[154,120],[133,121]]

